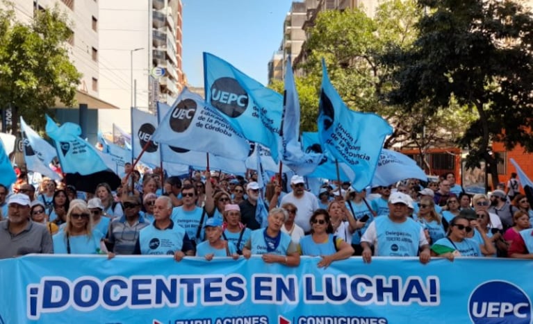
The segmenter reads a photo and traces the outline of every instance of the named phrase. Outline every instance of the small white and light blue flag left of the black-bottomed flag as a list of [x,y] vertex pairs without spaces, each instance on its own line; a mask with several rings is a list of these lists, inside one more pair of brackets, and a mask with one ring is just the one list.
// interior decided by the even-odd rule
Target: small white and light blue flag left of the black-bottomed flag
[[28,170],[38,172],[52,180],[61,180],[61,176],[50,169],[49,164],[57,156],[56,149],[42,139],[35,130],[20,117],[20,130],[24,143],[24,161]]

